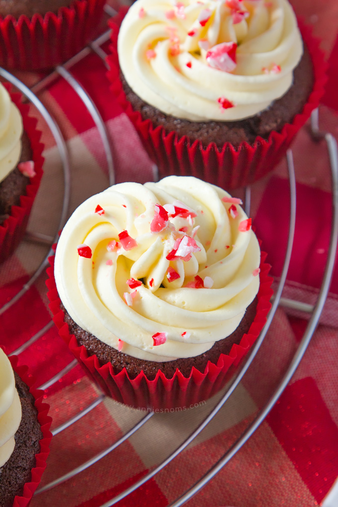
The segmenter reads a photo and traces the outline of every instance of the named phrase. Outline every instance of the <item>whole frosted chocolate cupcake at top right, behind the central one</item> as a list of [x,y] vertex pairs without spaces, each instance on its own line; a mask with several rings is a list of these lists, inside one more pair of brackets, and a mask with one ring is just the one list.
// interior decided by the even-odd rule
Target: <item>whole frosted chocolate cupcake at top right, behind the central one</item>
[[286,0],[138,0],[122,18],[112,90],[160,177],[252,183],[318,105],[323,55]]

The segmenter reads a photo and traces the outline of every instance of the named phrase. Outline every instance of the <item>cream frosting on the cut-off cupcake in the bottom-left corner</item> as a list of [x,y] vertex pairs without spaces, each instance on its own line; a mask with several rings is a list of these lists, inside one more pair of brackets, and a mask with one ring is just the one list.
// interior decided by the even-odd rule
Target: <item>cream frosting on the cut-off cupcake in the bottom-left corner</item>
[[14,435],[21,421],[21,403],[11,363],[0,349],[0,467],[14,451]]

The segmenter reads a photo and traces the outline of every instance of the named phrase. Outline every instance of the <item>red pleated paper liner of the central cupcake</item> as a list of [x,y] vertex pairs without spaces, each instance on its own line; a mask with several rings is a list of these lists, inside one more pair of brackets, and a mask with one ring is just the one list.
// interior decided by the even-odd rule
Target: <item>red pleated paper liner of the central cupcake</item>
[[79,346],[74,335],[69,333],[68,324],[64,321],[64,312],[60,308],[54,278],[54,257],[49,259],[51,267],[47,269],[49,279],[46,281],[49,308],[59,335],[68,345],[71,352],[84,367],[89,377],[99,385],[102,391],[119,403],[130,408],[154,410],[155,412],[173,411],[176,408],[185,410],[195,404],[204,402],[218,392],[236,371],[241,359],[256,341],[263,328],[267,314],[271,308],[270,299],[273,294],[271,284],[273,278],[268,276],[270,265],[265,263],[267,254],[261,252],[260,286],[255,318],[247,334],[244,334],[239,345],[233,345],[230,354],[220,354],[217,364],[208,361],[204,372],[192,367],[188,378],[177,369],[172,378],[167,378],[159,370],[154,380],[147,379],[141,371],[131,379],[124,368],[115,373],[111,363],[100,366],[96,355],[89,355],[86,348]]

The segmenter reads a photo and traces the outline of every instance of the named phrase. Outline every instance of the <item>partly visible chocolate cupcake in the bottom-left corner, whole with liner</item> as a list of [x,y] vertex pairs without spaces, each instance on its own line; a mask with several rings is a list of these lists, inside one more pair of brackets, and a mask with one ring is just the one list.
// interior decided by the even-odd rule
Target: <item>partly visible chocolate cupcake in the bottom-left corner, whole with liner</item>
[[43,392],[27,385],[26,371],[2,349],[0,372],[0,505],[25,507],[46,467],[51,418]]

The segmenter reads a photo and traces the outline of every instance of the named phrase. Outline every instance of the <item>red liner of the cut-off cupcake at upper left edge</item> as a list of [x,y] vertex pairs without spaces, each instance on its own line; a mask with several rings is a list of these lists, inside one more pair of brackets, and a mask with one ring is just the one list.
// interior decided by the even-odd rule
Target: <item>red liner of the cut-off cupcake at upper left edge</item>
[[36,174],[29,180],[26,187],[26,195],[22,195],[20,197],[20,205],[12,206],[9,218],[0,225],[0,263],[4,262],[11,253],[13,253],[25,233],[30,210],[36,193],[39,190],[43,175],[42,166],[44,163],[44,158],[42,156],[44,145],[40,142],[40,130],[36,130],[37,119],[28,116],[29,105],[21,102],[22,95],[20,93],[11,92],[12,87],[8,83],[3,83],[3,85],[9,91],[12,101],[21,113],[23,128],[30,141],[32,159]]

